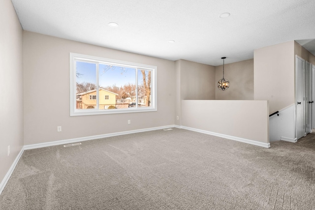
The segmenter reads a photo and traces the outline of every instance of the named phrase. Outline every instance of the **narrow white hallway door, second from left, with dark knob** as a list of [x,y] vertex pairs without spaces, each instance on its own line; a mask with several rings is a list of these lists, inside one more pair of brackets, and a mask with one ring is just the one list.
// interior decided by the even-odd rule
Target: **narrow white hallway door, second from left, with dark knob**
[[312,68],[311,63],[305,61],[305,90],[306,90],[306,100],[305,100],[305,117],[306,117],[306,134],[310,133],[312,130]]

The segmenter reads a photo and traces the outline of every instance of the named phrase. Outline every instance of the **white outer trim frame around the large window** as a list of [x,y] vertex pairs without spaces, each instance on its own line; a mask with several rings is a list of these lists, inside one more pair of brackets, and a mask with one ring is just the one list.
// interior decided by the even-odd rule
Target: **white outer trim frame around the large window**
[[[151,107],[136,107],[133,109],[76,109],[76,71],[75,61],[86,60],[90,62],[105,62],[113,65],[123,65],[134,68],[145,68],[152,70],[151,73]],[[158,110],[157,105],[157,66],[146,65],[134,62],[127,62],[122,60],[105,59],[95,56],[88,56],[76,53],[70,53],[70,116],[85,116],[85,115],[104,115],[104,114],[120,114],[120,113],[136,113],[136,112],[155,112]],[[96,95],[98,90],[96,89]],[[136,96],[137,97],[137,96]],[[97,104],[98,97],[96,96]]]

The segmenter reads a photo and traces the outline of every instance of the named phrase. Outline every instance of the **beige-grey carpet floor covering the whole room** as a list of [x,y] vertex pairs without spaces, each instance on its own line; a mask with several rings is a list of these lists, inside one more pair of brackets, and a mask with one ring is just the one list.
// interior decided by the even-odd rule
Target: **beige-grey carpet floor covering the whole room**
[[1,210],[312,210],[315,134],[261,148],[184,129],[25,150]]

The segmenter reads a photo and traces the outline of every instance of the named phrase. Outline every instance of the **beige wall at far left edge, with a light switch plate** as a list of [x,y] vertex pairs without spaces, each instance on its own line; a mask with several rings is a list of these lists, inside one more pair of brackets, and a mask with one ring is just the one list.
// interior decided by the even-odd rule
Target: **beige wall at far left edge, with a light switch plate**
[[1,182],[23,147],[23,31],[10,0],[0,0],[0,29]]

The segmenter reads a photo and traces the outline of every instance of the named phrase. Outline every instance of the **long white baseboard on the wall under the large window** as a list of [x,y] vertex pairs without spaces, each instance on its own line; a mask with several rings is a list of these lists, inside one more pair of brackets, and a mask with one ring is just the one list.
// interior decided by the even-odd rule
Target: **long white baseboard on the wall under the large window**
[[87,137],[74,138],[74,139],[66,139],[66,140],[60,140],[60,141],[54,141],[54,142],[45,142],[45,143],[39,143],[39,144],[25,145],[24,150],[31,150],[31,149],[36,149],[36,148],[50,147],[50,146],[63,145],[63,144],[71,144],[75,142],[83,142],[83,141],[102,139],[102,138],[113,137],[113,136],[121,136],[121,135],[132,134],[132,133],[140,133],[140,132],[146,132],[146,131],[152,131],[152,130],[160,130],[160,129],[165,129],[165,128],[172,128],[174,126],[175,125],[166,125],[166,126],[160,126],[160,127],[144,128],[144,129],[139,129],[139,130],[129,130],[129,131],[123,131],[123,132],[117,132],[117,133],[108,133],[108,134],[87,136]]

